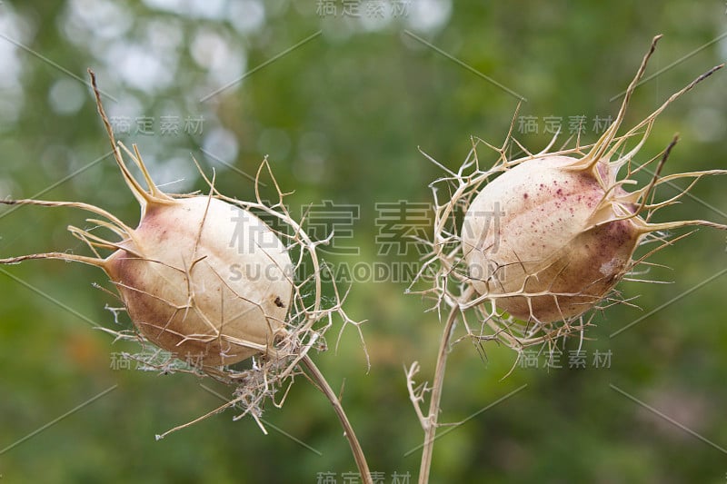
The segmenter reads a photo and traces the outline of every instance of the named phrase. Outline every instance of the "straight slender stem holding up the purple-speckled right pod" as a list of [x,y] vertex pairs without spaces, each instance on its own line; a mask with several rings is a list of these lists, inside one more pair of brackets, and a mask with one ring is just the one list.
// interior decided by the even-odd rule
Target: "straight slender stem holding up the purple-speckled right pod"
[[434,369],[434,380],[432,386],[432,397],[429,400],[429,414],[424,424],[424,443],[422,449],[422,464],[419,468],[419,484],[429,482],[429,472],[432,468],[432,455],[434,451],[434,440],[436,439],[437,426],[440,411],[440,402],[442,401],[442,389],[444,386],[444,370],[447,366],[447,357],[449,356],[449,343],[452,339],[452,330],[454,321],[457,320],[457,313],[460,311],[458,306],[453,306],[449,313],[444,331],[442,333],[442,341],[439,345],[439,354],[437,355],[437,366]]

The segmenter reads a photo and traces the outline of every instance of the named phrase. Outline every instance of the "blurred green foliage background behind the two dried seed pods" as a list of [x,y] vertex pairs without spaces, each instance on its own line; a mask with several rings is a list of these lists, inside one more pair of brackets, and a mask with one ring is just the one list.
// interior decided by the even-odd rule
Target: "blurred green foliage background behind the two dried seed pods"
[[[515,134],[538,151],[552,136],[545,133],[548,116],[561,118],[567,132],[571,116],[584,115],[583,142],[596,139],[593,119],[616,114],[618,101],[610,99],[628,84],[653,35],[664,38],[647,75],[665,71],[637,90],[627,126],[727,56],[722,1],[478,4],[2,2],[0,196],[53,186],[40,198],[90,202],[138,220],[112,159],[102,158],[108,142],[90,90],[78,80],[92,67],[117,131],[130,123],[119,138],[139,144],[167,190],[204,189],[194,156],[207,172],[217,171],[223,193],[251,198],[253,184],[240,172],[254,173],[268,154],[284,190],[295,191],[288,199],[294,213],[326,200],[358,207],[352,237],[341,245],[360,253],[327,259],[415,262],[411,251],[378,255],[376,203],[429,202],[427,184],[443,173],[417,147],[453,169],[471,136],[502,143],[517,99],[473,71],[527,99],[520,114],[535,118],[538,133]],[[673,104],[640,159],[679,132],[667,173],[727,166],[725,93],[727,73],[719,73]],[[139,119],[151,120],[149,133]],[[178,133],[163,129],[175,120]],[[492,153],[482,150],[480,159]],[[703,202],[685,198],[659,220],[727,222],[723,183],[704,180],[692,192]],[[4,208],[0,256],[86,253],[65,231],[69,223],[83,226],[83,215]],[[512,351],[488,344],[482,359],[472,345],[457,346],[442,419],[469,420],[437,441],[432,481],[724,482],[726,278],[698,285],[721,274],[726,260],[724,233],[707,229],[655,255],[652,262],[671,269],[653,268],[646,277],[673,283],[622,283],[623,296],[638,296],[642,310],[621,305],[596,316],[583,347],[585,369],[569,368],[566,354],[562,369],[539,361],[503,378]],[[92,329],[89,321],[115,327],[105,311],[114,300],[94,282],[108,286],[102,272],[64,262],[25,262],[0,273],[0,480],[345,482],[354,471],[333,411],[302,379],[282,410],[264,413],[269,435],[228,411],[155,441],[222,402],[201,384],[224,397],[231,390],[189,375],[112,368],[115,353],[134,347]],[[420,380],[431,379],[441,330],[435,314],[423,312],[428,302],[403,294],[406,285],[363,281],[351,288],[346,308],[368,320],[371,370],[350,329],[337,353],[332,332],[332,350],[315,356],[334,389],[344,385],[344,407],[384,482],[416,477],[418,452],[405,454],[423,433],[403,365],[420,361]],[[610,364],[594,364],[596,351],[610,354]]]

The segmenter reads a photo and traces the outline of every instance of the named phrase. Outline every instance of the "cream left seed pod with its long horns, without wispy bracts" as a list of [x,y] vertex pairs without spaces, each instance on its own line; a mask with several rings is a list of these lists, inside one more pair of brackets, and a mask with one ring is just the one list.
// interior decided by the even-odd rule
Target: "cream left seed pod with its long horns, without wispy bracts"
[[[86,203],[5,200],[93,212],[105,220],[88,222],[114,232],[120,241],[106,241],[71,226],[68,230],[86,242],[96,257],[47,252],[0,259],[0,263],[62,259],[102,268],[138,331],[194,365],[217,367],[268,353],[284,337],[294,291],[293,264],[284,244],[240,206],[212,195],[172,197],[161,192],[136,147],[132,153],[120,144],[143,173],[144,189],[124,164],[97,92],[96,97],[116,163],[141,205],[138,227],[132,229]],[[95,248],[114,252],[104,258]]]

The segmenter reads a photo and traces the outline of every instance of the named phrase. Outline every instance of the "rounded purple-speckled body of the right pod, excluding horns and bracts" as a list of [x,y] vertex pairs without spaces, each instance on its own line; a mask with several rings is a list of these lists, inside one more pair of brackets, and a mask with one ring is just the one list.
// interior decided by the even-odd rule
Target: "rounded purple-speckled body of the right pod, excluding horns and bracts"
[[[573,318],[593,307],[628,270],[654,229],[632,214],[620,190],[607,193],[578,160],[545,156],[521,163],[485,186],[463,222],[463,252],[474,288],[502,295],[497,306],[527,321]],[[618,196],[617,193],[619,194]]]

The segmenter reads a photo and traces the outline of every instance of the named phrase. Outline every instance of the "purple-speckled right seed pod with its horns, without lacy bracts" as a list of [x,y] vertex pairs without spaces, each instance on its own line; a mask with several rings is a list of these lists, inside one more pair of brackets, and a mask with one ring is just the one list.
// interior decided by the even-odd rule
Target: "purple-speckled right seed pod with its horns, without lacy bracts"
[[[709,170],[660,176],[676,137],[647,186],[627,192],[624,185],[636,182],[628,176],[617,179],[619,169],[632,163],[656,116],[673,99],[722,67],[713,68],[673,94],[628,133],[616,137],[647,59],[648,55],[616,120],[582,158],[543,153],[514,161],[512,168],[486,183],[473,197],[461,231],[463,258],[474,290],[499,310],[523,321],[571,321],[603,301],[632,271],[638,263],[632,259],[633,253],[647,234],[690,225],[727,229],[703,220],[648,222],[654,212],[688,193],[702,176],[727,173]],[[623,143],[641,129],[642,140],[630,152],[616,157]],[[680,178],[694,180],[669,200],[649,200],[654,187]]]

